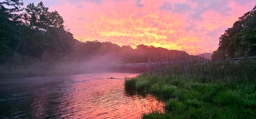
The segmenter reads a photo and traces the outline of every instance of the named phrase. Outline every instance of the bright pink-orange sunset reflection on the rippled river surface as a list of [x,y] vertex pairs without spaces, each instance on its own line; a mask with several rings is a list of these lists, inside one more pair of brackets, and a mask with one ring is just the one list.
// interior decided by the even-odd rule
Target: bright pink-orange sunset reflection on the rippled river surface
[[[113,74],[106,77],[111,77]],[[117,75],[117,74],[116,74]],[[116,76],[115,75],[115,76]],[[76,79],[81,80],[81,79]],[[131,95],[124,89],[124,79],[92,78],[73,85],[74,92],[68,97],[73,100],[71,118],[135,119],[143,113],[163,112],[164,103],[152,95]]]

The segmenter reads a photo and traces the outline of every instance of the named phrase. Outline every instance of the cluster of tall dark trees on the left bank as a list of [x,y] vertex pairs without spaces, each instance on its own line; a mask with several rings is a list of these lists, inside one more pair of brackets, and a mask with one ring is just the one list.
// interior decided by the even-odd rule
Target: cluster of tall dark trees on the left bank
[[8,63],[11,71],[19,56],[27,59],[48,54],[47,60],[56,60],[60,58],[57,56],[68,55],[74,38],[65,30],[59,13],[49,12],[42,2],[22,6],[20,0],[0,2],[0,63]]

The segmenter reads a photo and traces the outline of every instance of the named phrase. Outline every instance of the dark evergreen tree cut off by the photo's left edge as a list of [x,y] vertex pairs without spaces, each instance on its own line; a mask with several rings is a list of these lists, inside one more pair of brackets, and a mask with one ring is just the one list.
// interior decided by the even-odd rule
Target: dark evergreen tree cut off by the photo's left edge
[[[23,9],[21,0],[5,0],[0,2],[0,63],[6,62],[11,56],[16,39],[20,36],[21,23],[18,12]],[[8,8],[6,8],[8,6]]]

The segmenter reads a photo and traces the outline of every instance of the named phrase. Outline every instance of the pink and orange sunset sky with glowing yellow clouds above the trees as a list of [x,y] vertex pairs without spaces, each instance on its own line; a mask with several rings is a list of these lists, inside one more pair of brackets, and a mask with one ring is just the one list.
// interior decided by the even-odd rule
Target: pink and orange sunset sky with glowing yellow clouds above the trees
[[256,0],[23,0],[57,10],[75,39],[213,52]]

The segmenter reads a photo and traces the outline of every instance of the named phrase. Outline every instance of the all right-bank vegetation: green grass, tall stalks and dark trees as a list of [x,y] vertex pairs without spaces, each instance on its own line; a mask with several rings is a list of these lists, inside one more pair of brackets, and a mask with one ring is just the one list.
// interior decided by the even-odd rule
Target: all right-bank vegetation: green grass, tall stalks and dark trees
[[[149,92],[165,102],[164,113],[156,110],[142,118],[255,119],[256,61],[250,57],[256,54],[255,12],[256,7],[225,30],[212,61],[157,56],[148,71],[126,78],[126,90]],[[229,60],[236,57],[243,58]]]

